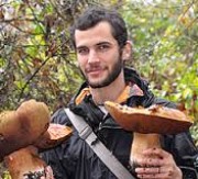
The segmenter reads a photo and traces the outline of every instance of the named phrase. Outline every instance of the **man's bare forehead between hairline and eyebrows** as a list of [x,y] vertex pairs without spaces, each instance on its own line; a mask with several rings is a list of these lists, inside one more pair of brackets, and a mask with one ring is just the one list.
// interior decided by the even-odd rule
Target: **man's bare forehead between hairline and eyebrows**
[[92,46],[102,42],[117,43],[112,35],[111,25],[108,22],[100,22],[94,27],[85,31],[76,30],[75,41],[76,47]]

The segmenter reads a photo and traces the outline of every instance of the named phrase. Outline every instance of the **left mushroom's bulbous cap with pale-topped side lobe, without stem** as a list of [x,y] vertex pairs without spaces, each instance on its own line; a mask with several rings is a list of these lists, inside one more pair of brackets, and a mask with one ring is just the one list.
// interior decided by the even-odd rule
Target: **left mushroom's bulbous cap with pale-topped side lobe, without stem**
[[3,157],[29,145],[41,149],[61,144],[72,135],[72,128],[50,124],[51,113],[44,102],[29,100],[15,111],[0,113],[0,161]]

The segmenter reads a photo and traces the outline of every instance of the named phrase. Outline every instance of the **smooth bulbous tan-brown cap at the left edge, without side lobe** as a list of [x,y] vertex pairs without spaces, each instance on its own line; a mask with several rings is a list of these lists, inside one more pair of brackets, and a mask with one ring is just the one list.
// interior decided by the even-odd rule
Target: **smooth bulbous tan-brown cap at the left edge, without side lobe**
[[46,132],[50,118],[47,105],[35,100],[23,102],[15,111],[0,113],[0,160],[33,144]]

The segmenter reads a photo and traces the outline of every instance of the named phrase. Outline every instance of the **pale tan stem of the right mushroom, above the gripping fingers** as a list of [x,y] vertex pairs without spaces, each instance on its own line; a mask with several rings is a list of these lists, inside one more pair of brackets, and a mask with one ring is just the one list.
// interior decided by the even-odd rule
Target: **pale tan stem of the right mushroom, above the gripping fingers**
[[138,159],[143,158],[143,150],[147,148],[161,148],[160,134],[133,133],[133,143],[131,146],[130,164],[132,168],[138,165]]

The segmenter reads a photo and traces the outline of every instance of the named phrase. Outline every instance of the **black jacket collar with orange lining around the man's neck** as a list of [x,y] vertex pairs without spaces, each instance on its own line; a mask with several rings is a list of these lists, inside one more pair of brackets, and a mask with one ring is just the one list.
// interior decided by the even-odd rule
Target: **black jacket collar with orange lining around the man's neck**
[[[136,71],[131,68],[124,68],[124,77],[127,87],[116,102],[128,103],[131,107],[151,105],[154,101],[154,96],[148,91],[147,82],[140,78]],[[69,102],[68,107],[74,113],[87,119],[87,122],[94,128],[96,126],[98,127],[103,116],[107,116],[107,119],[103,120],[103,127],[120,128],[111,118],[103,115],[101,110],[99,110],[99,108],[97,108],[92,102],[89,87],[87,82],[84,82],[78,93]]]

